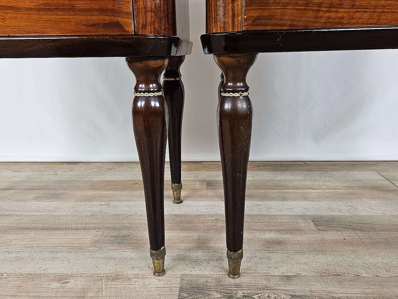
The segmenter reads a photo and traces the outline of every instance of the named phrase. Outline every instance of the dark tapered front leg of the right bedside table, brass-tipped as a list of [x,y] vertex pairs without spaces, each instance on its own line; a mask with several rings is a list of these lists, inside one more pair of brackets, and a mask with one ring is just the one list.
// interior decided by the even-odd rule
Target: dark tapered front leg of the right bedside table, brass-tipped
[[225,80],[217,121],[224,181],[228,275],[238,278],[243,259],[246,177],[252,136],[252,103],[246,75],[257,54],[214,56]]

